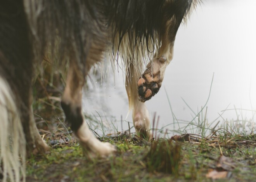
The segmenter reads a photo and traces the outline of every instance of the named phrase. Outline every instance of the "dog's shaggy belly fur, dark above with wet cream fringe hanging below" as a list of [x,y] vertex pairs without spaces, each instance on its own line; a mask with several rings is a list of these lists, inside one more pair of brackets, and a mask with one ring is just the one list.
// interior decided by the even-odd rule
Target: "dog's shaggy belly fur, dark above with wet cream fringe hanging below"
[[[201,0],[185,1],[184,21]],[[100,51],[109,51],[112,60],[123,59],[124,70],[131,60],[141,70],[161,46],[163,17],[171,19],[178,12],[172,8],[174,3],[176,0],[24,0],[24,7],[35,55],[42,55],[60,37],[61,52],[75,53],[85,66],[93,38],[96,44],[106,45]],[[97,55],[93,58],[93,62],[99,61]],[[36,60],[41,59],[36,56]]]

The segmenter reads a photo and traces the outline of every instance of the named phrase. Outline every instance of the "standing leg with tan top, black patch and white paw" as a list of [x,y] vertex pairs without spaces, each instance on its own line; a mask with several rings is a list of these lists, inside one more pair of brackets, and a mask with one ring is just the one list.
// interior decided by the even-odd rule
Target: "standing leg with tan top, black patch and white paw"
[[[93,61],[90,56],[86,60],[86,71],[83,73],[78,62],[71,60],[69,63],[69,73],[67,76],[66,88],[62,96],[61,106],[66,114],[66,120],[71,124],[71,129],[78,138],[80,144],[85,149],[89,157],[106,157],[116,151],[110,143],[100,142],[88,128],[88,125],[82,115],[82,88],[85,83],[85,76]],[[91,62],[91,64],[90,64]]]

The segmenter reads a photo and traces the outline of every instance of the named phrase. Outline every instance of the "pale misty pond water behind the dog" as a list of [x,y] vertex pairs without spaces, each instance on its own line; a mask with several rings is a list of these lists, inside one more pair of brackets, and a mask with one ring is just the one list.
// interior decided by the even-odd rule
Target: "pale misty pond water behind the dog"
[[[255,7],[255,0],[208,0],[197,8],[186,26],[180,27],[174,58],[166,69],[161,90],[146,102],[151,118],[155,112],[159,116],[157,128],[184,129],[204,105],[207,110],[204,107],[199,115],[201,120],[221,121],[220,124],[224,120],[249,120],[253,127],[256,120],[253,118],[256,112]],[[120,122],[122,117],[133,126],[131,114],[126,118],[128,100],[123,75],[119,70],[114,79],[109,71],[107,77],[108,81],[104,82],[90,75],[91,81],[83,94],[83,110],[101,119],[106,128],[128,129],[127,122],[122,122],[123,127]],[[94,129],[99,124],[90,123],[90,126]],[[192,128],[187,128],[187,132],[189,129]]]

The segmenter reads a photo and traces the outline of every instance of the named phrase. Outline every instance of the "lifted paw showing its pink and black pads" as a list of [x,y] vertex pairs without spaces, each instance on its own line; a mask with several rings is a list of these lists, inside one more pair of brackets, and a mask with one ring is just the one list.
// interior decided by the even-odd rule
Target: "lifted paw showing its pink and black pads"
[[145,102],[157,94],[163,82],[165,69],[162,69],[166,61],[164,56],[154,59],[147,65],[142,77],[137,82],[139,100]]

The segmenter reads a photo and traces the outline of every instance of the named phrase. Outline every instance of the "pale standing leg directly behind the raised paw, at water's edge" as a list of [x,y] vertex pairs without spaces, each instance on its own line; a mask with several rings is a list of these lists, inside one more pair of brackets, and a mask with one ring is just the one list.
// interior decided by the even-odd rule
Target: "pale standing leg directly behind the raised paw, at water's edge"
[[130,63],[126,70],[126,92],[129,109],[132,109],[133,126],[136,134],[150,140],[152,132],[150,131],[149,111],[145,103],[138,100],[137,80],[140,76],[140,71]]

